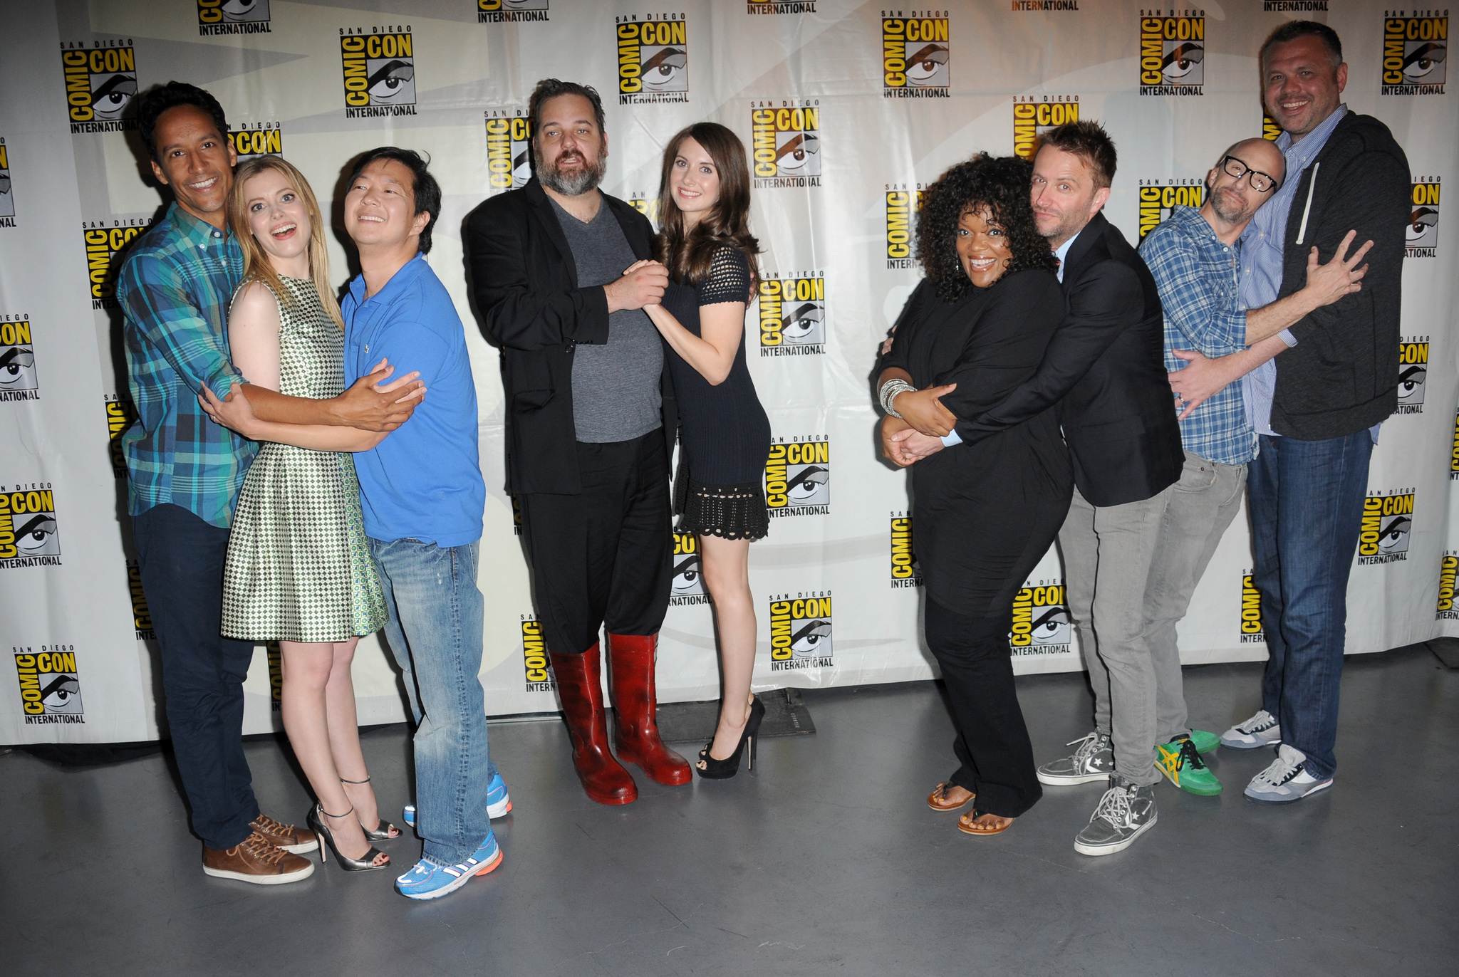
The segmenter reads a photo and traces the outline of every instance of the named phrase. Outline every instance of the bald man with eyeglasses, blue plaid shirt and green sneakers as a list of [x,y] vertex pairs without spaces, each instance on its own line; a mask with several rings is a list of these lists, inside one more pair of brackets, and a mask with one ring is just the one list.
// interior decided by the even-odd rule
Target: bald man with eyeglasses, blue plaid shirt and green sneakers
[[[1205,204],[1199,210],[1176,207],[1141,242],[1139,257],[1160,290],[1166,369],[1173,376],[1192,356],[1234,356],[1247,347],[1256,354],[1277,354],[1287,349],[1277,332],[1361,287],[1363,270],[1354,268],[1367,248],[1347,258],[1344,242],[1338,257],[1325,265],[1309,258],[1300,292],[1261,309],[1243,305],[1242,232],[1269,206],[1285,169],[1272,143],[1236,143],[1207,174]],[[1154,758],[1156,768],[1176,787],[1211,796],[1221,792],[1221,782],[1201,752],[1215,750],[1220,741],[1210,732],[1192,732],[1188,723],[1176,626],[1242,506],[1256,433],[1236,384],[1199,405],[1186,405],[1177,395],[1176,410],[1185,468],[1161,515],[1144,602],[1144,639],[1156,672]]]

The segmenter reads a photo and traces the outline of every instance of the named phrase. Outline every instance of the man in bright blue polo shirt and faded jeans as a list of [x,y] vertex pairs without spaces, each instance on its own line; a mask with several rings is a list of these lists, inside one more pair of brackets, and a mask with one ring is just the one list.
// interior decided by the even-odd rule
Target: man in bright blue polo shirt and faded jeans
[[[492,834],[493,785],[481,682],[477,544],[486,484],[477,465],[476,386],[465,331],[425,255],[441,187],[414,152],[374,149],[355,165],[344,227],[359,274],[344,314],[344,378],[382,357],[410,362],[427,394],[411,421],[356,452],[371,554],[385,588],[390,639],[416,713],[416,830],[420,862],[395,885],[439,898],[502,860]],[[505,806],[505,805],[499,805]]]

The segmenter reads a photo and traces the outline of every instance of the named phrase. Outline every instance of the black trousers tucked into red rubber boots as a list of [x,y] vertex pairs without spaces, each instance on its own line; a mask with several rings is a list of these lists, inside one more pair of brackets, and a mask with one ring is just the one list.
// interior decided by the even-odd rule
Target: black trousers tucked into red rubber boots
[[664,432],[578,442],[582,491],[525,493],[522,540],[537,618],[553,652],[579,655],[610,634],[654,634],[668,611],[673,513]]

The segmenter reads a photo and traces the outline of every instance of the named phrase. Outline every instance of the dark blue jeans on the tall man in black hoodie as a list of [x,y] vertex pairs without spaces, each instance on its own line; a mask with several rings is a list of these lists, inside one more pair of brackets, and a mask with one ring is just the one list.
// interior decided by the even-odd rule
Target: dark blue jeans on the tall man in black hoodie
[[1348,573],[1363,523],[1373,436],[1296,440],[1261,436],[1247,470],[1252,583],[1262,592],[1266,675],[1262,707],[1282,742],[1331,777],[1338,761],[1338,691],[1348,621]]

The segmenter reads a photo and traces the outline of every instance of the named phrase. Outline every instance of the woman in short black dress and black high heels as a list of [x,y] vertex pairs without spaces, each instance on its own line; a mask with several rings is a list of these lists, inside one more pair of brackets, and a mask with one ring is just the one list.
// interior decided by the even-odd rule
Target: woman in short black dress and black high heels
[[748,230],[744,146],[716,122],[690,125],[664,152],[658,192],[664,223],[658,258],[671,281],[662,305],[643,311],[670,347],[681,423],[680,531],[699,537],[719,631],[724,700],[715,738],[699,751],[699,776],[722,779],[738,771],[746,744],[754,766],[754,735],[765,715],[750,694],[756,642],[750,542],[769,531],[762,477],[770,421],[744,362],[744,311],[760,252]]

